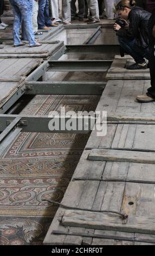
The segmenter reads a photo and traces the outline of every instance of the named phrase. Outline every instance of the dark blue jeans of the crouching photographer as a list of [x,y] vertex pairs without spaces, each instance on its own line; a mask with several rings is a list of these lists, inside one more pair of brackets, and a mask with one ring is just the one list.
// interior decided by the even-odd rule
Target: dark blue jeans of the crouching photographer
[[142,64],[145,62],[144,58],[149,59],[149,48],[142,48],[136,45],[135,39],[121,38],[119,36],[118,40],[125,53],[129,54],[136,63]]

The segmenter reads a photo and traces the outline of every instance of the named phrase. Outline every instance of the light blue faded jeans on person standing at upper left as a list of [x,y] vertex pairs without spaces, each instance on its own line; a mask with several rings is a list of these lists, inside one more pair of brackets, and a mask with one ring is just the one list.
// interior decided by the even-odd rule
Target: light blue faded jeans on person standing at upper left
[[14,45],[21,44],[20,39],[20,28],[22,19],[24,22],[24,30],[27,34],[29,45],[32,46],[35,44],[35,35],[33,32],[33,0],[9,0],[12,5],[14,13]]

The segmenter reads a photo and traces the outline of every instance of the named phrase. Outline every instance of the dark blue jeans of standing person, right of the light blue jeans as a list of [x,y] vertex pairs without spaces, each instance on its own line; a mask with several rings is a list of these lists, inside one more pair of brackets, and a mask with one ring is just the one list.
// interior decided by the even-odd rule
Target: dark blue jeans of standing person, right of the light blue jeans
[[49,0],[38,0],[38,29],[51,26],[49,17]]

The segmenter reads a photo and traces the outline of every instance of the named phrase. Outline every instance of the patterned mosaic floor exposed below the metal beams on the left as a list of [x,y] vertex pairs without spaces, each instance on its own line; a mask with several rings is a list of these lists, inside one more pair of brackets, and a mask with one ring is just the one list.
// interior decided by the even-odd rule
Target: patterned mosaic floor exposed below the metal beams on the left
[[[93,111],[99,96],[37,95],[23,114]],[[20,133],[0,159],[0,245],[41,245],[89,135]]]

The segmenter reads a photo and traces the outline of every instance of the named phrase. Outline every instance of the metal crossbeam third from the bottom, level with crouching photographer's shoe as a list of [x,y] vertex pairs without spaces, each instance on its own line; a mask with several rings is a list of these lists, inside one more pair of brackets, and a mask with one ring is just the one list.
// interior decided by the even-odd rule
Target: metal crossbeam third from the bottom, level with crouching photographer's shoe
[[53,60],[48,63],[49,71],[106,72],[112,60]]

